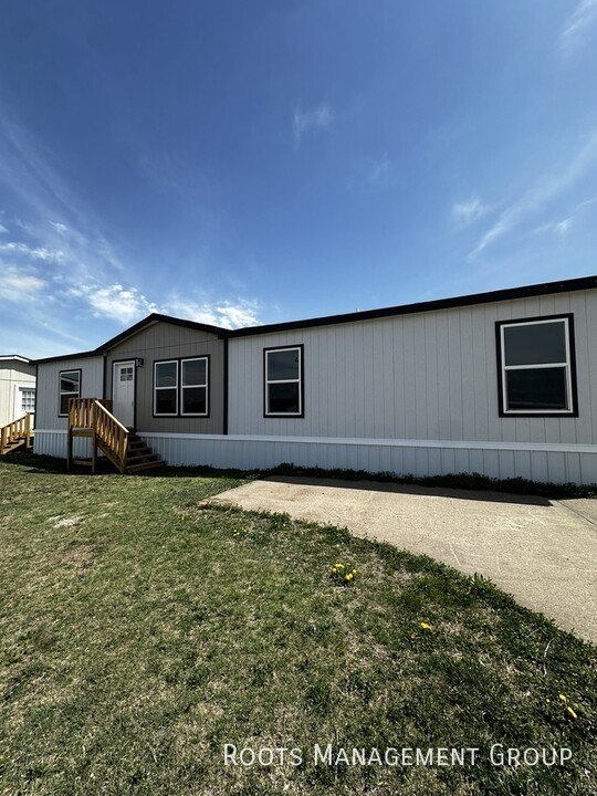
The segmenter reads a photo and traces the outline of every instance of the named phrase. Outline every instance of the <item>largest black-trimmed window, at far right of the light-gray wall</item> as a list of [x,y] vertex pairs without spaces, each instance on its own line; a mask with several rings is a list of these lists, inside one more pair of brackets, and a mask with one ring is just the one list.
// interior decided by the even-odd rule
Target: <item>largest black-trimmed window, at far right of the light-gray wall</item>
[[500,413],[576,415],[572,315],[498,323]]

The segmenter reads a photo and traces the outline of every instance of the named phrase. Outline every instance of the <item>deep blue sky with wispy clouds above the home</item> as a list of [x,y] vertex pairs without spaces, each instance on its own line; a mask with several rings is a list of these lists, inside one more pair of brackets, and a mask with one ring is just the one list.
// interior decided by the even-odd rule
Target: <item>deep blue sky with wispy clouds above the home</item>
[[597,273],[597,0],[8,0],[0,353]]

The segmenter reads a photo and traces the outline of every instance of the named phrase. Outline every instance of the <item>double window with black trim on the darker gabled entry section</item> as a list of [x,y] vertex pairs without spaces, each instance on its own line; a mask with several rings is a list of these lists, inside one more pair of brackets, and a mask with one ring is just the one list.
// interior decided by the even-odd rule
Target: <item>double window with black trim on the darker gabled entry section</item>
[[208,417],[209,357],[154,363],[155,417]]

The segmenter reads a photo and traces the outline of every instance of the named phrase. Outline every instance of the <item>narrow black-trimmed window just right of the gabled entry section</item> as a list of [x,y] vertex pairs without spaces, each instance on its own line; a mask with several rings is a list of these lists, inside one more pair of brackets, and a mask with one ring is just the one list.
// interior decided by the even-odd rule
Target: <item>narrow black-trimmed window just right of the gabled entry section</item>
[[264,349],[265,417],[303,417],[303,346]]

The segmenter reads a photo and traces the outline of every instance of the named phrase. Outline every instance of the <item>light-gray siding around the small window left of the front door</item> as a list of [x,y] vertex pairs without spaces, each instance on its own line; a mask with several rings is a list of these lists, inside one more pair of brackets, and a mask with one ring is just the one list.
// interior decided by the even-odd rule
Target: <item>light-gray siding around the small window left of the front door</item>
[[66,429],[66,418],[59,417],[61,370],[81,370],[81,398],[104,397],[103,357],[81,357],[39,365],[35,406],[38,429]]

